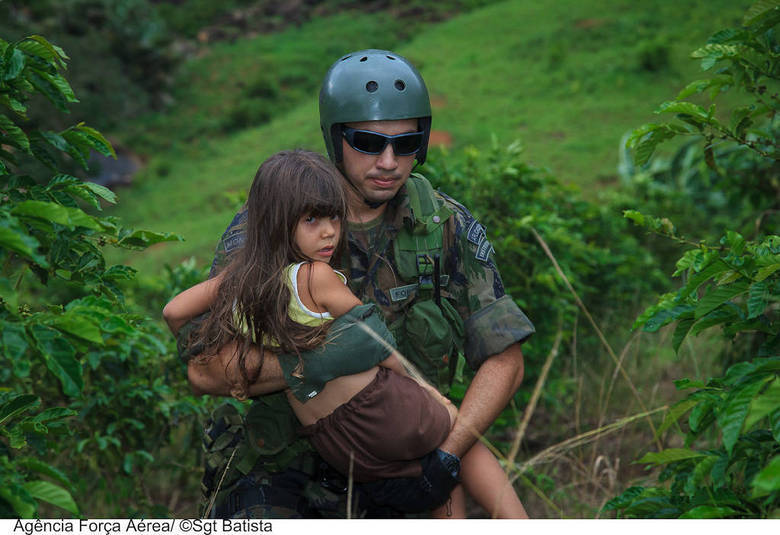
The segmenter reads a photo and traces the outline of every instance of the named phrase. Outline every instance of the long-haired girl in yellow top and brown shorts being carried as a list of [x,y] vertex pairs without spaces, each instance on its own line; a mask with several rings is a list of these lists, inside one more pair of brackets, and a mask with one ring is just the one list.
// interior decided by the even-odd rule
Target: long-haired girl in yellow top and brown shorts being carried
[[[247,212],[245,244],[228,266],[166,305],[171,330],[210,309],[196,343],[204,344],[203,355],[215,355],[239,341],[243,382],[233,386],[234,397],[244,399],[255,379],[244,364],[248,345],[259,346],[261,355],[268,347],[285,371],[301,433],[329,464],[375,503],[465,518],[460,486],[451,508],[441,499],[428,503],[433,498],[419,492],[426,487],[419,481],[422,465],[447,437],[457,409],[408,376],[392,347],[376,340],[392,342],[376,307],[363,305],[328,265],[344,242],[346,201],[338,171],[316,153],[278,153],[260,166]],[[482,443],[463,456],[461,477],[487,512],[526,517]]]

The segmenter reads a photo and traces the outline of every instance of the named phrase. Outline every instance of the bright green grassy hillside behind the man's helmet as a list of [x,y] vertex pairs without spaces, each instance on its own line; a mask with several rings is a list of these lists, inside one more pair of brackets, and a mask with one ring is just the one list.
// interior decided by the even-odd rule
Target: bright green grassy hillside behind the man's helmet
[[[431,27],[406,44],[392,20],[357,15],[220,44],[183,66],[179,103],[168,115],[144,117],[119,133],[152,156],[133,187],[120,192],[116,215],[186,240],[123,260],[149,273],[191,255],[207,262],[235,210],[235,196],[226,192],[247,189],[259,163],[277,150],[324,150],[316,87],[267,124],[237,130],[238,113],[238,123],[219,126],[264,69],[302,62],[319,68],[319,78],[330,60],[308,62],[315,54],[335,59],[360,47],[392,47],[420,67],[434,129],[451,136],[453,151],[485,147],[491,134],[507,143],[519,138],[529,160],[593,192],[612,184],[623,133],[651,120],[659,102],[696,76],[690,50],[737,24],[747,3],[513,0]],[[278,94],[278,106],[286,106],[288,94],[300,98],[294,88]],[[165,139],[141,133],[155,125],[165,126],[157,130],[168,132]]]

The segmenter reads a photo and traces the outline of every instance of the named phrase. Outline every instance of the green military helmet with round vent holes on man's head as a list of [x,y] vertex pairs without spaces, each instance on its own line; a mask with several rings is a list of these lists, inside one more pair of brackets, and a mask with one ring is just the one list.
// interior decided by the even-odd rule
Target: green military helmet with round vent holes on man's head
[[341,162],[341,125],[359,121],[418,119],[425,161],[431,132],[431,102],[425,82],[403,56],[388,50],[359,50],[331,65],[320,89],[320,127],[334,163]]

